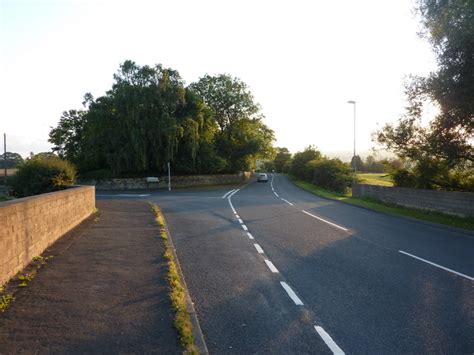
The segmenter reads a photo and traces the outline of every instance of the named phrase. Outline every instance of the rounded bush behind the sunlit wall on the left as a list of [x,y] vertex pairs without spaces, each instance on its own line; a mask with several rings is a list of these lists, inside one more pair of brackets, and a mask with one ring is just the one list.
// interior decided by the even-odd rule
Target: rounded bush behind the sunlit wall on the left
[[73,185],[76,169],[56,156],[35,156],[23,162],[11,181],[13,194],[25,197],[65,189]]

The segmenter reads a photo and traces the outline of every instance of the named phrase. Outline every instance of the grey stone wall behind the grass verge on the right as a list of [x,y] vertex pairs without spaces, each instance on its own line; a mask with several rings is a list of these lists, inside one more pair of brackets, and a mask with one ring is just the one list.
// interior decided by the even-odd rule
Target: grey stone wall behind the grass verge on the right
[[355,197],[372,197],[400,206],[443,212],[463,217],[474,216],[474,193],[436,191],[357,184],[352,188]]

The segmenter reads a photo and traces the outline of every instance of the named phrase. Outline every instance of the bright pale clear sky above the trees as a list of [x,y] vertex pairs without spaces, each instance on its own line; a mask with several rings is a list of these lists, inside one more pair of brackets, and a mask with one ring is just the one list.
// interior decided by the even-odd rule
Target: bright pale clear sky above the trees
[[246,82],[278,146],[357,150],[404,110],[409,74],[435,68],[411,0],[0,0],[0,130],[9,151],[50,148],[61,113],[101,96],[120,63],[162,63],[186,83]]

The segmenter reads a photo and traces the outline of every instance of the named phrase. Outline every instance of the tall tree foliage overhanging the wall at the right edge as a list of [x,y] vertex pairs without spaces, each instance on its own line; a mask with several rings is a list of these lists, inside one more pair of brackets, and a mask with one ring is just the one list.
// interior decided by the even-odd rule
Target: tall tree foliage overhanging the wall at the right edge
[[[474,174],[474,6],[472,0],[418,0],[417,10],[438,70],[412,77],[405,116],[386,125],[377,140],[414,162],[417,186],[459,188],[466,183],[452,179]],[[436,103],[440,113],[425,127],[420,121],[426,102]]]

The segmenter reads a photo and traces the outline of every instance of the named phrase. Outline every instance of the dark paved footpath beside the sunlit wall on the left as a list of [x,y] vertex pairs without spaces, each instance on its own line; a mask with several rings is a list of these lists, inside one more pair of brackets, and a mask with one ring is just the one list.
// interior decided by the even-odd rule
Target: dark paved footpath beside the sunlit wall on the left
[[182,352],[150,205],[97,207],[0,313],[0,354]]

